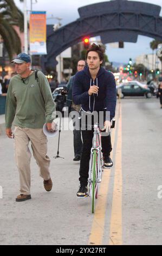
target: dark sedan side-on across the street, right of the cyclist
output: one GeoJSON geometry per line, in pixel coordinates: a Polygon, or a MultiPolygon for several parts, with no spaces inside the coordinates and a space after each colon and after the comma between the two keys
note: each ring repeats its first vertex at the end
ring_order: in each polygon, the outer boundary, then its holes
{"type": "Polygon", "coordinates": [[[141,84],[138,81],[130,81],[127,83],[121,83],[120,86],[116,87],[117,96],[124,98],[125,96],[146,96],[147,98],[152,97],[151,91],[147,88],[147,85],[141,84]],[[121,91],[121,92],[120,92],[121,91]]]}

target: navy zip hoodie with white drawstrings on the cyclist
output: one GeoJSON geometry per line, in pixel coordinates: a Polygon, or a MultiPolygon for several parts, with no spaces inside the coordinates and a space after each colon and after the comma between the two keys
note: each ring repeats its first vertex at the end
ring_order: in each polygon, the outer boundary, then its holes
{"type": "Polygon", "coordinates": [[[113,74],[100,68],[95,81],[93,81],[88,66],[77,72],[73,81],[73,101],[76,105],[81,105],[85,111],[93,112],[93,110],[105,109],[110,112],[112,119],[115,116],[116,107],[116,84],[113,74]],[[93,85],[98,85],[98,95],[89,96],[88,90],[93,85]]]}

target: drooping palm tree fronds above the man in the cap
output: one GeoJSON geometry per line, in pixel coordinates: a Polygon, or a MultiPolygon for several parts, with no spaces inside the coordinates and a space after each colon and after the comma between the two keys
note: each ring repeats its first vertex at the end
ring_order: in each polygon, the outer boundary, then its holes
{"type": "Polygon", "coordinates": [[[21,40],[13,26],[23,31],[23,13],[13,0],[0,0],[0,35],[10,60],[13,54],[21,52],[21,40]]]}

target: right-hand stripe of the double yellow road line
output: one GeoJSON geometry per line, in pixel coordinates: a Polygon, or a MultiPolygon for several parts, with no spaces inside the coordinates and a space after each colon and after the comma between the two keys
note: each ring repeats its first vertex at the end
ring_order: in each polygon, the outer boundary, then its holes
{"type": "Polygon", "coordinates": [[[109,231],[109,245],[122,245],[122,166],[121,166],[121,143],[122,143],[122,120],[121,104],[118,120],[118,137],[115,153],[114,190],[112,200],[112,213],[109,231]]]}

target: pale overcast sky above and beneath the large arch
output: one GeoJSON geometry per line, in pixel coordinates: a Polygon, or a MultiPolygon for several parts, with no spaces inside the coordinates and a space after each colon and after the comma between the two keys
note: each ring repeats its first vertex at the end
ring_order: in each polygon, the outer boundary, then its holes
{"type": "MultiPolygon", "coordinates": [[[[23,10],[23,3],[20,3],[20,0],[14,0],[17,7],[23,10]]],[[[27,0],[28,9],[30,9],[30,0],[27,0]]],[[[62,18],[62,25],[66,25],[70,22],[75,21],[79,18],[79,13],[77,9],[79,7],[83,7],[85,5],[93,4],[93,3],[101,3],[106,2],[102,0],[37,0],[36,4],[33,4],[33,10],[47,11],[47,17],[60,17],[62,18]]],[[[162,8],[162,0],[143,0],[135,2],[146,2],[160,5],[162,8]]],[[[35,3],[35,0],[33,0],[35,3]]],[[[160,12],[160,16],[162,16],[162,10],[160,12]]],[[[57,20],[50,19],[47,22],[48,24],[57,23],[57,20]]],[[[110,62],[121,62],[127,63],[129,58],[132,58],[135,61],[135,57],[139,56],[142,53],[148,54],[152,53],[150,48],[150,42],[152,38],[148,38],[147,36],[138,36],[138,41],[136,44],[125,42],[124,48],[112,48],[107,44],[107,55],[110,62]]]]}

